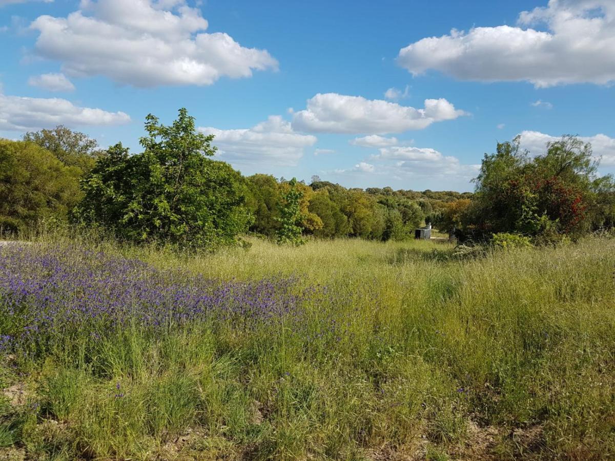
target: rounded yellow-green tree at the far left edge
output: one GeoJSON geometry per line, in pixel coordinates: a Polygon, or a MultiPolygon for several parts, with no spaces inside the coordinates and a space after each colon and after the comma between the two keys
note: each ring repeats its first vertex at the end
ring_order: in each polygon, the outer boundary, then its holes
{"type": "Polygon", "coordinates": [[[65,221],[81,198],[80,173],[37,144],[0,140],[0,227],[21,232],[39,221],[65,221]]]}

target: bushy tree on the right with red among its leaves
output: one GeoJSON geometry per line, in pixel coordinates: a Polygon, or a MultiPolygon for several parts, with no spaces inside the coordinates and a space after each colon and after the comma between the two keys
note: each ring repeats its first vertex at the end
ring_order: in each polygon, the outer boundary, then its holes
{"type": "Polygon", "coordinates": [[[576,136],[548,143],[544,154],[530,157],[520,138],[498,144],[485,154],[476,193],[464,221],[483,234],[516,232],[538,241],[558,235],[577,238],[612,210],[605,199],[611,178],[597,178],[598,160],[590,144],[576,136]]]}

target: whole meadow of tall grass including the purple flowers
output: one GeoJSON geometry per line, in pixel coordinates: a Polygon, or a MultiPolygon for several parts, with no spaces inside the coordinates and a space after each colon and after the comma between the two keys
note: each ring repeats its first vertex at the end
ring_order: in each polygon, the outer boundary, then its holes
{"type": "Polygon", "coordinates": [[[250,242],[0,248],[0,456],[615,457],[615,240],[250,242]]]}

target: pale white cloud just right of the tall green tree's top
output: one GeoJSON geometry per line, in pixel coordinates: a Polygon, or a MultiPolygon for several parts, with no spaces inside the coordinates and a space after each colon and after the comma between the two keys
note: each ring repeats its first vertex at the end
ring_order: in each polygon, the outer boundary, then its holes
{"type": "Polygon", "coordinates": [[[303,156],[303,149],[317,141],[315,136],[294,132],[290,122],[280,116],[269,116],[252,128],[203,127],[199,130],[215,135],[213,144],[218,146],[224,160],[239,164],[296,165],[303,156]]]}

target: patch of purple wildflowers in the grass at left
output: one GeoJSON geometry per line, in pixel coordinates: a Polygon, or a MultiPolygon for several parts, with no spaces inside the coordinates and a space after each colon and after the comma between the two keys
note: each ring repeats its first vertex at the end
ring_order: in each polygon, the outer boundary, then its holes
{"type": "Polygon", "coordinates": [[[151,331],[215,320],[251,329],[297,318],[307,293],[293,278],[223,281],[161,270],[76,246],[0,249],[0,349],[87,331],[92,339],[137,324],[151,331]]]}

